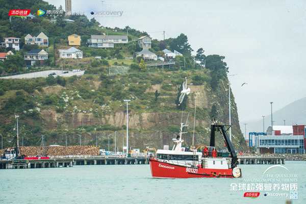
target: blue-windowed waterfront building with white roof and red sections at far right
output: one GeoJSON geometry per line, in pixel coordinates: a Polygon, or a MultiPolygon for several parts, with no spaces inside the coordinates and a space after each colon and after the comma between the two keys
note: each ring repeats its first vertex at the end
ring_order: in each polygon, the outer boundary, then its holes
{"type": "Polygon", "coordinates": [[[305,154],[305,125],[273,125],[266,133],[250,132],[248,146],[260,154],[305,154]]]}

